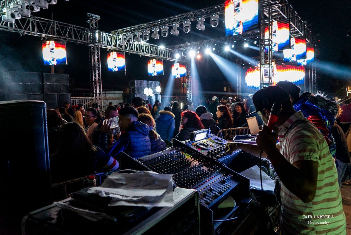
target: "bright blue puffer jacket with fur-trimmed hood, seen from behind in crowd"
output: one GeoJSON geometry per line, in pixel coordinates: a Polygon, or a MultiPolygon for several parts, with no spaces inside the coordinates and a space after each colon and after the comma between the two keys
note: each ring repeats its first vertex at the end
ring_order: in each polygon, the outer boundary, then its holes
{"type": "Polygon", "coordinates": [[[170,111],[160,111],[160,116],[156,119],[156,131],[161,139],[172,140],[174,133],[174,114],[170,111]]]}

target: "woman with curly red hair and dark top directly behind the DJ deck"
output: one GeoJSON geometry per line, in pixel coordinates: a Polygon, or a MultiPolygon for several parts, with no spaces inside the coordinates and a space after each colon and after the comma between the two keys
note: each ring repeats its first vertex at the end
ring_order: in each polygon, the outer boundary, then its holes
{"type": "Polygon", "coordinates": [[[193,111],[184,111],[181,113],[181,129],[176,139],[184,141],[190,139],[190,134],[193,131],[204,129],[204,125],[201,123],[199,116],[193,111]]]}

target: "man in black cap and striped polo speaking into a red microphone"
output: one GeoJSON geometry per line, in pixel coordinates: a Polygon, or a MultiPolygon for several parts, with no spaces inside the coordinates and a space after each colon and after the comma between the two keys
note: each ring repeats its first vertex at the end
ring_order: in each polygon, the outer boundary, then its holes
{"type": "MultiPolygon", "coordinates": [[[[265,123],[273,103],[282,104],[273,132],[267,126],[259,132],[258,148],[237,144],[254,155],[263,150],[282,181],[282,234],[346,234],[338,174],[323,135],[294,110],[280,87],[260,89],[252,100],[265,123]]],[[[231,152],[235,146],[232,143],[226,149],[231,152]]]]}

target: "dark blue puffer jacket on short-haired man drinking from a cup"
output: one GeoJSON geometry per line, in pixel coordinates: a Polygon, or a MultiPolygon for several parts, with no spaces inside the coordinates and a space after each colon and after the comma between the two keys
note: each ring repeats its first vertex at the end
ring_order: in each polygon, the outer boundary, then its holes
{"type": "Polygon", "coordinates": [[[151,142],[148,134],[149,127],[146,124],[134,121],[110,148],[107,148],[107,133],[101,132],[99,147],[112,157],[123,151],[132,158],[141,158],[151,153],[151,142]]]}

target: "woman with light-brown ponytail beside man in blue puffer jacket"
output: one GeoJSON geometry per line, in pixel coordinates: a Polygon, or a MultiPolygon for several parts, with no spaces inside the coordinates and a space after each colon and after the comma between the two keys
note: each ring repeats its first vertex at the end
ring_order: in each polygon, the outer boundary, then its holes
{"type": "Polygon", "coordinates": [[[149,127],[151,154],[165,150],[166,143],[165,141],[161,140],[160,135],[154,131],[156,127],[156,123],[153,117],[151,116],[151,114],[146,114],[146,113],[139,114],[138,121],[145,123],[149,127]]]}

